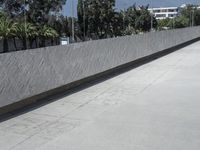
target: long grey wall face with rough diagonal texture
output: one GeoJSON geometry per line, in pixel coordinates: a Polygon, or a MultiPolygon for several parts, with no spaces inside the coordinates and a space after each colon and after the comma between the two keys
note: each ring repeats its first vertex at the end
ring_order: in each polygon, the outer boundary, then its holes
{"type": "Polygon", "coordinates": [[[200,37],[200,27],[0,54],[0,107],[200,37]]]}

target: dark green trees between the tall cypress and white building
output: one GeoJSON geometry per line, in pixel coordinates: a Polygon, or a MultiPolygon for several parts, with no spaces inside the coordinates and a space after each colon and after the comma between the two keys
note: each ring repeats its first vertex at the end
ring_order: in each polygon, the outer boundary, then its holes
{"type": "Polygon", "coordinates": [[[157,21],[147,6],[134,4],[116,11],[115,0],[78,0],[78,34],[82,38],[108,38],[147,32],[157,21]]]}

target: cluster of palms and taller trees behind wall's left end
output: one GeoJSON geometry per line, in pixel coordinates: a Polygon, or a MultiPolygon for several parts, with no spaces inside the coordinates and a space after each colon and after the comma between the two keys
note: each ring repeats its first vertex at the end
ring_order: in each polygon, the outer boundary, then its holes
{"type": "Polygon", "coordinates": [[[65,28],[66,19],[60,15],[66,0],[0,0],[0,39],[3,52],[8,52],[8,40],[16,39],[27,47],[44,47],[45,40],[58,43],[65,28]],[[29,44],[29,46],[28,46],[29,44]]]}

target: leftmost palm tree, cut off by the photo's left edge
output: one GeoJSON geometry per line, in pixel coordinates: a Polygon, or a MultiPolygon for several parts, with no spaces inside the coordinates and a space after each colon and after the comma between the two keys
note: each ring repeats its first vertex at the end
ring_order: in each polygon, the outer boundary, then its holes
{"type": "Polygon", "coordinates": [[[0,37],[3,39],[3,52],[8,52],[8,39],[15,36],[16,23],[7,17],[0,18],[0,37]]]}

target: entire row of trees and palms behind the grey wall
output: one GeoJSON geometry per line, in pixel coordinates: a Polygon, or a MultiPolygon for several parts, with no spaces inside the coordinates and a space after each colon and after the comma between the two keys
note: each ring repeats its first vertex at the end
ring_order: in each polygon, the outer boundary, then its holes
{"type": "Polygon", "coordinates": [[[72,37],[72,31],[75,41],[85,41],[200,25],[200,10],[194,5],[181,9],[175,19],[156,20],[149,5],[133,4],[119,11],[115,0],[78,0],[77,17],[65,17],[65,3],[66,0],[0,0],[3,52],[8,52],[9,40],[15,50],[19,50],[16,40],[20,40],[25,50],[44,47],[46,40],[51,45],[59,44],[59,38],[72,37]]]}

